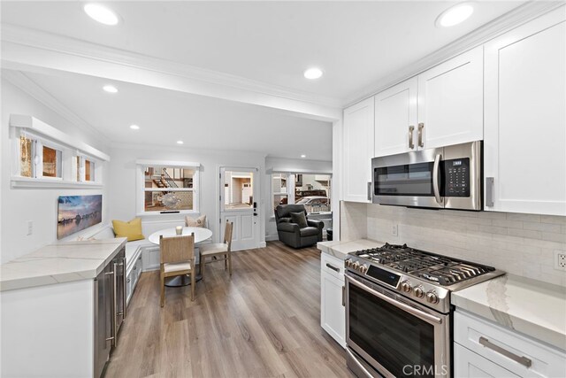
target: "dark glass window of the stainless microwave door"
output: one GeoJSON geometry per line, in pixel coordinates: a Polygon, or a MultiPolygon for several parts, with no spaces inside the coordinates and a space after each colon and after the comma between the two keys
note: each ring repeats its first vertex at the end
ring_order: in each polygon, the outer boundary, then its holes
{"type": "Polygon", "coordinates": [[[433,167],[434,163],[430,162],[375,168],[375,195],[432,197],[433,167]]]}

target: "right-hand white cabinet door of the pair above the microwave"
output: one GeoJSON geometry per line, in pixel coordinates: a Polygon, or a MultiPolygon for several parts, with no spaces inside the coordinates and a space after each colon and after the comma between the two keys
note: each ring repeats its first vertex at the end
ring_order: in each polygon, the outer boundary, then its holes
{"type": "Polygon", "coordinates": [[[484,139],[483,57],[479,46],[418,75],[419,148],[484,139]]]}

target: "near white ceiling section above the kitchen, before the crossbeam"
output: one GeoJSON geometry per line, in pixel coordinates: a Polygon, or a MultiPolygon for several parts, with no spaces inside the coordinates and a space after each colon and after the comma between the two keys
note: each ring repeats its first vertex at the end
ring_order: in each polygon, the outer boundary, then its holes
{"type": "Polygon", "coordinates": [[[455,1],[104,2],[123,22],[89,19],[79,1],[2,2],[2,21],[120,50],[346,99],[524,1],[478,1],[463,24],[434,26],[455,1]],[[302,72],[320,66],[325,76],[302,72]]]}

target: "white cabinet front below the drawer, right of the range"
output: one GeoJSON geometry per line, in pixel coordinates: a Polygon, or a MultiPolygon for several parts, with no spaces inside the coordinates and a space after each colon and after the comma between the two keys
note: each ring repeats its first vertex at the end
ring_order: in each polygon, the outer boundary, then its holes
{"type": "Polygon", "coordinates": [[[454,343],[454,376],[458,378],[518,377],[459,343],[454,343]]]}

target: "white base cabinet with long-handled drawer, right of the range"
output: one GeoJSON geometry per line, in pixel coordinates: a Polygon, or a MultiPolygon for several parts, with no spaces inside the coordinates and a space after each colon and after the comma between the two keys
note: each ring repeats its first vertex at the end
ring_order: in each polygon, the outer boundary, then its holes
{"type": "Polygon", "coordinates": [[[459,309],[454,313],[454,343],[457,377],[566,374],[564,351],[459,309]]]}

